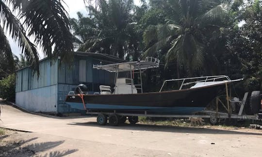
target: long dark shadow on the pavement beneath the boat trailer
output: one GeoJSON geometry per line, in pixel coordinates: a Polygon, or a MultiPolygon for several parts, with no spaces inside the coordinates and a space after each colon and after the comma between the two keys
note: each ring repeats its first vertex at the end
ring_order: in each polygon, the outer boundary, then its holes
{"type": "Polygon", "coordinates": [[[238,135],[262,135],[261,133],[240,132],[233,130],[220,130],[213,128],[199,128],[199,127],[186,127],[186,126],[158,126],[150,124],[123,124],[120,126],[99,126],[96,122],[86,123],[73,123],[67,125],[77,126],[96,126],[111,129],[125,129],[125,130],[138,130],[138,131],[162,131],[162,132],[177,132],[177,133],[197,133],[197,134],[238,134],[238,135]]]}

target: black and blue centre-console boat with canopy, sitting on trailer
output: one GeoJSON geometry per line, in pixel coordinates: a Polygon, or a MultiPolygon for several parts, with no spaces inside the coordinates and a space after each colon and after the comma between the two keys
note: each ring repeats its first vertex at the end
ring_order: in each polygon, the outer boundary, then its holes
{"type": "Polygon", "coordinates": [[[143,93],[142,75],[149,68],[159,67],[159,60],[147,57],[145,61],[94,65],[115,73],[115,87],[100,85],[100,92],[87,94],[85,85],[66,96],[66,104],[88,112],[121,112],[148,114],[193,114],[204,110],[208,104],[235,81],[228,76],[206,76],[164,80],[158,92],[143,93]],[[123,75],[127,77],[122,77],[123,75]],[[134,74],[140,82],[134,84],[134,74]],[[167,82],[176,82],[178,89],[164,91],[167,82]]]}

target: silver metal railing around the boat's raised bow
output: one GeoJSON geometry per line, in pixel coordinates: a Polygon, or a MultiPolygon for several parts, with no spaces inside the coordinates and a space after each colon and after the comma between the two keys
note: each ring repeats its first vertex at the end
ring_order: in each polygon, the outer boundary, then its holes
{"type": "Polygon", "coordinates": [[[163,89],[163,87],[164,87],[164,84],[165,84],[166,82],[169,82],[169,81],[180,81],[180,80],[181,80],[182,83],[181,83],[180,88],[179,88],[179,90],[181,90],[184,85],[189,85],[189,84],[197,83],[197,82],[211,82],[211,81],[214,82],[215,80],[217,80],[217,79],[222,79],[222,78],[226,78],[227,81],[230,81],[230,78],[229,78],[228,76],[226,76],[226,75],[220,75],[220,76],[205,76],[205,77],[196,77],[196,78],[166,79],[166,80],[164,80],[163,85],[162,85],[162,87],[161,87],[161,89],[160,89],[159,92],[162,91],[162,89],[163,89]],[[186,80],[189,80],[189,79],[198,79],[198,80],[197,80],[197,81],[191,81],[191,82],[186,82],[186,83],[184,83],[186,80]]]}

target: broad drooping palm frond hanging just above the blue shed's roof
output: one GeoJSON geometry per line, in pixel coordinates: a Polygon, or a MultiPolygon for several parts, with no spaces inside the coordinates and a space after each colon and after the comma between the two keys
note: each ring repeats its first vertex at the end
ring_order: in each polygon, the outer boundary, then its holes
{"type": "Polygon", "coordinates": [[[68,14],[62,2],[63,0],[30,0],[26,6],[20,8],[20,18],[24,18],[29,35],[33,35],[34,42],[43,47],[45,56],[54,60],[60,56],[62,61],[66,61],[66,58],[73,58],[73,38],[68,14]]]}

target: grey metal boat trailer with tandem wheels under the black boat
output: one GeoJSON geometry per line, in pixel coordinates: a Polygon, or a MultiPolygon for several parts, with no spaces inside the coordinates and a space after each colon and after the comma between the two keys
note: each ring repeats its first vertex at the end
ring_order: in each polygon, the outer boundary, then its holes
{"type": "MultiPolygon", "coordinates": [[[[119,110],[112,110],[111,112],[109,112],[109,111],[106,111],[106,112],[95,111],[95,112],[93,112],[93,111],[87,110],[86,114],[98,115],[98,118],[97,118],[98,125],[105,125],[107,120],[104,121],[103,123],[101,123],[101,121],[99,121],[99,119],[100,120],[103,119],[103,118],[107,119],[106,117],[108,117],[109,124],[112,125],[112,126],[117,126],[120,123],[125,123],[125,121],[127,120],[127,117],[128,117],[128,120],[131,124],[135,124],[135,123],[138,122],[138,116],[142,116],[142,117],[165,117],[165,118],[210,118],[210,123],[213,124],[213,125],[217,124],[220,121],[220,119],[261,120],[262,117],[260,115],[243,114],[247,97],[248,97],[248,92],[245,93],[242,101],[240,101],[240,100],[229,100],[231,103],[238,103],[240,105],[240,110],[237,114],[236,113],[219,112],[218,110],[216,110],[216,111],[215,110],[203,110],[201,112],[197,112],[196,114],[192,114],[192,115],[147,114],[146,110],[143,111],[143,113],[141,113],[141,112],[140,113],[136,113],[136,112],[125,113],[125,112],[121,112],[119,110]],[[101,118],[101,116],[102,116],[102,118],[101,118]],[[112,118],[112,117],[114,117],[114,118],[112,118]]],[[[219,98],[217,97],[217,99],[219,99],[219,98]]]]}

